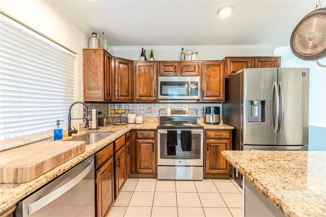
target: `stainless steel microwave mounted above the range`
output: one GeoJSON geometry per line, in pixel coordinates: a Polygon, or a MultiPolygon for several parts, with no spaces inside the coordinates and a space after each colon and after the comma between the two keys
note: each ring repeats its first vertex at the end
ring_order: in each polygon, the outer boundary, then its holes
{"type": "Polygon", "coordinates": [[[200,77],[158,77],[159,100],[200,99],[200,77]]]}

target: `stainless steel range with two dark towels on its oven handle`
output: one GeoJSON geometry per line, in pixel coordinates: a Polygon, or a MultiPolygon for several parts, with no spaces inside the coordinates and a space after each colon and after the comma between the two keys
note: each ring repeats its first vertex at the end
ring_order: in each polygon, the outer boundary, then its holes
{"type": "Polygon", "coordinates": [[[157,179],[203,180],[203,134],[197,109],[161,108],[157,179]]]}

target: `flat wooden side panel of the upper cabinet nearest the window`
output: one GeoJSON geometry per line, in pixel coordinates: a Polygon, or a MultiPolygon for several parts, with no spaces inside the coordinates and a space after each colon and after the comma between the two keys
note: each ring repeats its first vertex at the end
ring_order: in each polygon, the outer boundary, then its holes
{"type": "Polygon", "coordinates": [[[83,49],[84,101],[104,101],[103,53],[103,49],[83,49]]]}

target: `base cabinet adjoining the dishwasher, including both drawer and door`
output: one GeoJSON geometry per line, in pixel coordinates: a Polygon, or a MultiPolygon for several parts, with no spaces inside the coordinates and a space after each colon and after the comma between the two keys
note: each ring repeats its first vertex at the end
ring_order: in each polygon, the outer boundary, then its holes
{"type": "Polygon", "coordinates": [[[113,143],[95,154],[96,213],[107,216],[114,203],[113,143]]]}

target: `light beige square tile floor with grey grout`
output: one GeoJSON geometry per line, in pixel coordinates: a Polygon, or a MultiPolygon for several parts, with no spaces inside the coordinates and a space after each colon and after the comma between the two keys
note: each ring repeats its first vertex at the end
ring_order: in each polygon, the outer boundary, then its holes
{"type": "Polygon", "coordinates": [[[124,184],[108,216],[242,217],[243,192],[229,179],[132,178],[124,184]]]}

